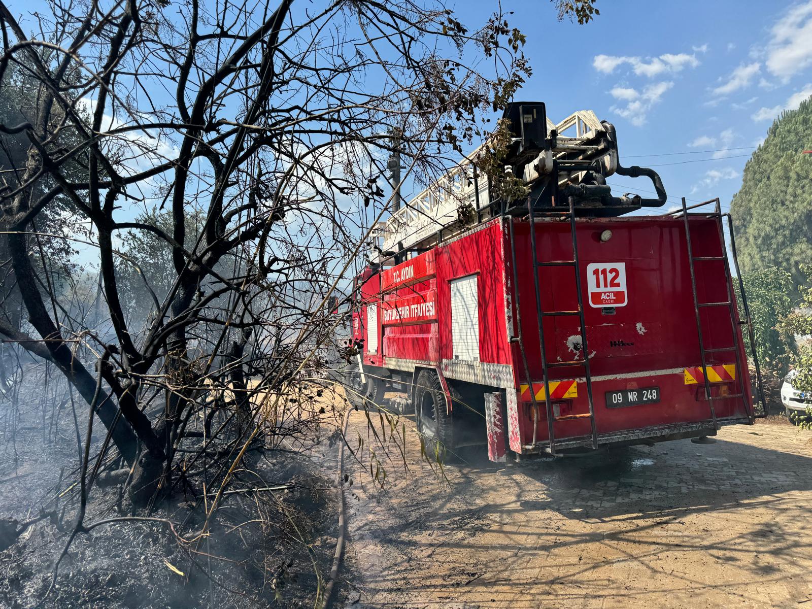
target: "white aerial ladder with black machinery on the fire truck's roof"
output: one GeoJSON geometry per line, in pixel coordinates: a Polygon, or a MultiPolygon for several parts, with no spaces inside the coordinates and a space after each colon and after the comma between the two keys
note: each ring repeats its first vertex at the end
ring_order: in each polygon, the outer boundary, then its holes
{"type": "MultiPolygon", "coordinates": [[[[506,169],[529,189],[533,211],[559,207],[580,217],[616,216],[643,206],[666,202],[663,184],[654,171],[624,167],[618,160],[615,127],[599,121],[592,110],[579,110],[558,124],[546,117],[543,103],[515,102],[505,110],[512,141],[506,169]],[[645,176],[654,185],[655,199],[636,194],[613,197],[607,177],[645,176]]],[[[375,248],[382,258],[400,257],[437,245],[460,228],[460,206],[470,205],[477,222],[500,214],[527,214],[525,201],[499,201],[490,179],[477,171],[476,159],[488,142],[406,201],[374,230],[375,248]]]]}

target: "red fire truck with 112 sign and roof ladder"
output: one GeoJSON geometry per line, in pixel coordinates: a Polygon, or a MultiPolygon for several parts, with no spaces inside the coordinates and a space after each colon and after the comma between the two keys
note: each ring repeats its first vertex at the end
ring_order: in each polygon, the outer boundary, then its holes
{"type": "Polygon", "coordinates": [[[350,392],[400,387],[425,438],[486,443],[496,461],[752,424],[753,330],[719,201],[621,217],[667,195],[654,171],[620,165],[611,123],[585,110],[556,125],[538,102],[505,118],[506,169],[528,196],[492,199],[466,161],[378,226],[354,289],[350,392]],[[657,197],[613,196],[613,174],[657,197]]]}

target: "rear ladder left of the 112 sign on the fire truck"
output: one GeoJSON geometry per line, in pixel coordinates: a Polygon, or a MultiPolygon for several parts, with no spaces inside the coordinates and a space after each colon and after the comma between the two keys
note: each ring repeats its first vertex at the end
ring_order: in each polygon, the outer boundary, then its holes
{"type": "MultiPolygon", "coordinates": [[[[542,354],[542,372],[544,374],[544,401],[546,404],[547,412],[547,434],[550,438],[550,454],[555,455],[555,421],[571,421],[573,419],[586,419],[590,420],[592,432],[592,447],[598,448],[598,430],[595,425],[595,411],[592,400],[592,374],[590,374],[590,357],[589,350],[586,346],[586,322],[584,319],[584,298],[581,291],[581,273],[580,266],[578,265],[578,242],[576,236],[576,223],[575,223],[575,204],[572,197],[569,198],[569,211],[566,212],[534,212],[528,199],[529,221],[530,221],[530,251],[533,257],[533,287],[536,291],[536,313],[538,315],[538,339],[539,347],[542,354]],[[572,234],[572,259],[571,260],[556,260],[556,261],[539,261],[538,253],[536,251],[536,231],[533,216],[535,214],[554,217],[557,216],[561,219],[567,218],[569,220],[570,231],[572,234]],[[542,292],[541,283],[538,279],[538,273],[543,266],[569,266],[575,273],[575,288],[578,297],[578,308],[574,311],[544,311],[542,310],[542,292]],[[547,361],[547,354],[545,349],[544,340],[544,318],[545,317],[574,317],[577,316],[581,322],[581,353],[583,357],[580,360],[572,361],[547,361]],[[568,366],[581,366],[584,369],[584,378],[586,380],[586,395],[590,403],[590,412],[581,414],[564,415],[564,417],[554,417],[552,404],[550,401],[550,369],[551,368],[564,368],[568,366]]],[[[522,354],[524,356],[524,354],[522,354]]],[[[538,404],[536,404],[536,395],[533,390],[533,379],[528,378],[527,382],[530,389],[530,400],[533,402],[533,413],[538,412],[538,404]]],[[[538,416],[538,415],[537,415],[538,416]]],[[[533,417],[533,446],[536,444],[536,417],[533,417]]]]}

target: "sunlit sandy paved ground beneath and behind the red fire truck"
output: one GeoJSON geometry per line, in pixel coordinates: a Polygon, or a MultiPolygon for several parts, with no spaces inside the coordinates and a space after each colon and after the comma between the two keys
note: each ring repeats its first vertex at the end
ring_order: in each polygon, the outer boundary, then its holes
{"type": "Polygon", "coordinates": [[[446,480],[412,438],[383,490],[355,466],[347,606],[812,607],[812,434],[718,438],[447,465],[446,480]]]}

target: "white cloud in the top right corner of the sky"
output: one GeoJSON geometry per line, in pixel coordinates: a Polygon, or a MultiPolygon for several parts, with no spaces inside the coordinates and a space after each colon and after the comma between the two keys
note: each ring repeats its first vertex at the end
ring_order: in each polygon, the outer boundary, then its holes
{"type": "Polygon", "coordinates": [[[812,64],[812,0],[793,6],[771,28],[765,66],[786,82],[812,64]]]}

